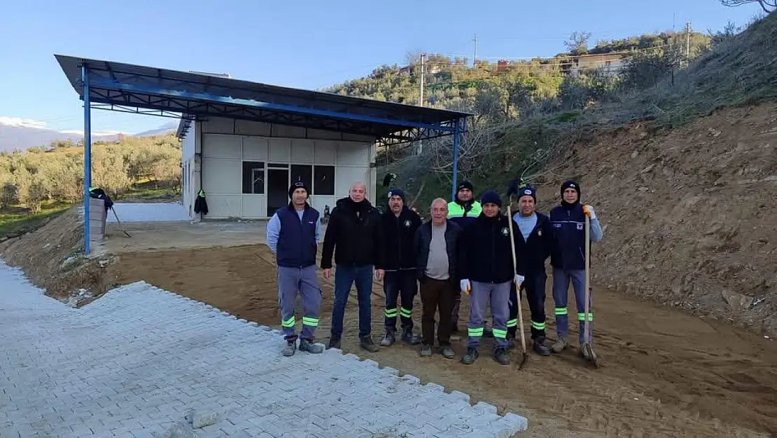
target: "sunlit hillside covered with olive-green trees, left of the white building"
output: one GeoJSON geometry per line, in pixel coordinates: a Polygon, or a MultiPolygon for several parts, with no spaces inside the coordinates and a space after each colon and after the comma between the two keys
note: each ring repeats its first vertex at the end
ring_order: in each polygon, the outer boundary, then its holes
{"type": "MultiPolygon", "coordinates": [[[[127,137],[92,145],[92,185],[112,198],[179,191],[181,143],[175,135],[127,137]]],[[[58,212],[83,197],[82,143],[0,152],[0,237],[17,223],[58,212]]]]}

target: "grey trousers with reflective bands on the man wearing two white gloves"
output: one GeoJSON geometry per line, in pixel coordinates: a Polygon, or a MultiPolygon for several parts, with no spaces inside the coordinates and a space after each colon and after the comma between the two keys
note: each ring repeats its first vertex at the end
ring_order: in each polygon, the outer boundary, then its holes
{"type": "Polygon", "coordinates": [[[493,338],[495,349],[507,349],[507,316],[510,314],[510,283],[470,282],[469,324],[467,324],[467,347],[478,348],[483,337],[486,321],[486,304],[491,303],[493,338]]]}

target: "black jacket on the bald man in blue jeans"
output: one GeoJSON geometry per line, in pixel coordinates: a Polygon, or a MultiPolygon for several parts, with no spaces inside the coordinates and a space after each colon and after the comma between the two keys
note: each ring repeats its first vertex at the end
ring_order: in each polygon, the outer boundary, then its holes
{"type": "Polygon", "coordinates": [[[381,215],[370,201],[337,200],[329,215],[321,251],[321,268],[332,268],[332,254],[337,265],[383,268],[384,239],[381,215]],[[337,251],[335,251],[337,247],[337,251]]]}

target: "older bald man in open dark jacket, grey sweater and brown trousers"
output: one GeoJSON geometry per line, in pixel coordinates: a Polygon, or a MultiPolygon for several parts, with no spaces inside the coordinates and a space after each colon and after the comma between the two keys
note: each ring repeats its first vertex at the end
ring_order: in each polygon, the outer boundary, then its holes
{"type": "Polygon", "coordinates": [[[451,317],[455,296],[458,295],[456,269],[460,227],[451,219],[446,219],[448,204],[443,198],[432,201],[430,211],[431,219],[420,226],[413,243],[423,303],[421,356],[432,355],[434,314],[439,309],[437,342],[440,343],[442,356],[452,359],[451,317]]]}

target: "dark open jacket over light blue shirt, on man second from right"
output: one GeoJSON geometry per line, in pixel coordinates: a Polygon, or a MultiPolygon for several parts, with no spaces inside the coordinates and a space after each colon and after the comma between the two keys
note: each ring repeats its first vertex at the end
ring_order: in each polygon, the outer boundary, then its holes
{"type": "Polygon", "coordinates": [[[536,214],[537,224],[527,240],[524,240],[517,223],[513,223],[513,233],[517,234],[515,256],[518,266],[523,269],[519,274],[545,277],[545,261],[550,257],[553,248],[553,227],[548,216],[536,214]]]}

